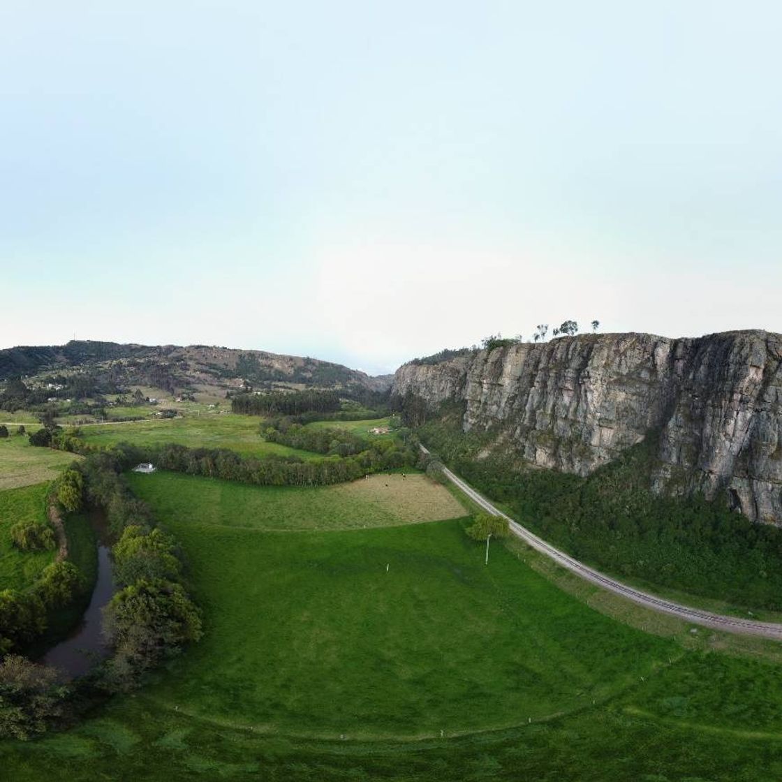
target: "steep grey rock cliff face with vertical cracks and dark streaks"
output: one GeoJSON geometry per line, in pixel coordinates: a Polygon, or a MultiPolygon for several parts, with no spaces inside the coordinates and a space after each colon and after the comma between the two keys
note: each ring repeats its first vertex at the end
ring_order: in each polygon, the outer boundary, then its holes
{"type": "Polygon", "coordinates": [[[404,364],[393,393],[466,403],[526,461],[587,475],[661,432],[652,488],[727,490],[749,518],[782,524],[782,335],[563,337],[404,364]]]}

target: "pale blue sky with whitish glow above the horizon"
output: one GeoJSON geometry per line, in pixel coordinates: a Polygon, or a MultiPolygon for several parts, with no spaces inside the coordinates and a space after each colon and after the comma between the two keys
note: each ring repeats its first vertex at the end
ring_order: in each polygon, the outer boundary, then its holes
{"type": "Polygon", "coordinates": [[[0,0],[0,347],[782,332],[777,2],[0,0]],[[587,327],[588,328],[588,327],[587,327]]]}

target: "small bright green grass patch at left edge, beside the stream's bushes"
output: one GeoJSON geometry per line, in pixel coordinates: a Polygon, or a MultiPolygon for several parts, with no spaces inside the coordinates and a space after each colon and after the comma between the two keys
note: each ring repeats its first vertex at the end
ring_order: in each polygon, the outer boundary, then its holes
{"type": "MultiPolygon", "coordinates": [[[[0,440],[2,447],[2,440],[0,440]]],[[[11,543],[16,522],[46,522],[47,484],[0,491],[0,590],[23,590],[34,582],[56,551],[20,551],[11,543]]]]}

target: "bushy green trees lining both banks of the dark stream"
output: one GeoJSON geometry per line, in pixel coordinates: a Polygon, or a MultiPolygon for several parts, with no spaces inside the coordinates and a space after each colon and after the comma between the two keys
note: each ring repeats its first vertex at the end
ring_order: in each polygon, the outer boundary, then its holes
{"type": "Polygon", "coordinates": [[[38,604],[62,604],[75,579],[81,579],[70,562],[56,563],[57,572],[45,570],[23,600],[10,599],[9,590],[0,593],[0,737],[28,739],[71,721],[107,694],[134,687],[145,671],[203,634],[200,609],[186,589],[178,543],[156,526],[149,506],[120,475],[133,456],[123,449],[92,454],[67,471],[79,479],[70,475],[56,484],[63,509],[83,502],[102,508],[118,538],[112,555],[119,588],[103,613],[112,653],[69,685],[58,683],[55,669],[19,654],[43,630],[38,604]]]}

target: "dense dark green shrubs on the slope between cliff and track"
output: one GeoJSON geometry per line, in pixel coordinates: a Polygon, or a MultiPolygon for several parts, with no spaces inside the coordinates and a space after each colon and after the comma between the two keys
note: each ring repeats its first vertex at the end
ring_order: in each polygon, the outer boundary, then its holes
{"type": "Polygon", "coordinates": [[[725,497],[650,490],[655,435],[588,478],[523,468],[513,454],[476,454],[492,436],[461,432],[450,411],[418,430],[477,489],[576,558],[638,583],[782,610],[782,529],[731,511],[725,497]]]}

